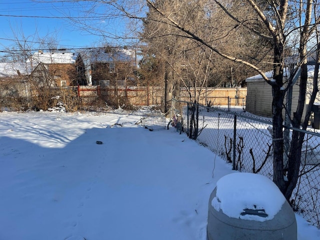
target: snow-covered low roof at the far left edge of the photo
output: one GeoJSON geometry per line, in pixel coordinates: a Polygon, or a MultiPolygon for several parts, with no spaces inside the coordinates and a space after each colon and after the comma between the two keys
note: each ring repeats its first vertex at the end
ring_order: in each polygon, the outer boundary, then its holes
{"type": "Polygon", "coordinates": [[[0,77],[12,77],[19,74],[26,75],[30,71],[30,63],[0,62],[0,77]]]}

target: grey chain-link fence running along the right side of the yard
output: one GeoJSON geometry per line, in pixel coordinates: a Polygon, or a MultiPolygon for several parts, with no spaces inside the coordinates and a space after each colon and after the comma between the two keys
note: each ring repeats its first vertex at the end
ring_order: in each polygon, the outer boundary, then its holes
{"type": "MultiPolygon", "coordinates": [[[[272,122],[245,112],[242,107],[203,106],[172,99],[171,117],[181,115],[183,131],[199,144],[232,164],[233,169],[272,179],[272,122]]],[[[289,129],[303,131],[300,129],[289,129]]],[[[320,134],[304,131],[298,183],[291,205],[320,228],[320,134]]],[[[290,138],[288,138],[290,139],[290,138]]],[[[284,156],[285,158],[285,156],[284,156]]]]}

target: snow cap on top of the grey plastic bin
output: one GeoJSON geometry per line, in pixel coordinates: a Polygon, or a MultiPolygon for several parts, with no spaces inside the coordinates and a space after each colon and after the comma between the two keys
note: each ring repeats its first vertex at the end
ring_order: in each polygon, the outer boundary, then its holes
{"type": "Polygon", "coordinates": [[[271,220],[285,202],[279,188],[267,177],[254,173],[237,172],[221,177],[216,183],[212,199],[215,210],[233,218],[271,220]],[[263,186],[263,187],[262,187],[263,186]],[[244,209],[260,210],[267,216],[244,214],[244,209]]]}

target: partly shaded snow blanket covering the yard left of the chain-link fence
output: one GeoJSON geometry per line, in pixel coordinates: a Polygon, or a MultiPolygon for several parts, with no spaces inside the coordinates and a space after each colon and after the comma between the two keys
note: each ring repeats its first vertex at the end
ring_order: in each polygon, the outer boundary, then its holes
{"type": "MultiPolygon", "coordinates": [[[[205,240],[209,195],[234,171],[134,124],[144,111],[0,112],[0,239],[205,240]]],[[[320,239],[296,219],[299,240],[320,239]]]]}

